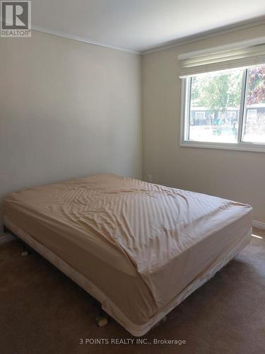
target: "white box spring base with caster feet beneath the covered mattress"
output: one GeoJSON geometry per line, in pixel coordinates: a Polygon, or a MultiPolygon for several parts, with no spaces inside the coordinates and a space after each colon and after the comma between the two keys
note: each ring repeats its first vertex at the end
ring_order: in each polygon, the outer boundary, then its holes
{"type": "MultiPolygon", "coordinates": [[[[40,244],[36,239],[30,236],[27,232],[24,232],[22,229],[17,227],[13,222],[8,220],[7,217],[4,217],[4,225],[7,232],[10,232],[14,236],[18,237],[20,241],[23,243],[23,247],[25,247],[24,254],[21,253],[22,256],[26,256],[28,254],[28,246],[30,249],[37,251],[41,256],[47,259],[52,265],[61,270],[62,273],[67,275],[73,282],[76,282],[83,290],[86,290],[88,294],[97,299],[97,301],[101,304],[102,310],[104,310],[110,317],[114,318],[119,324],[121,324],[129,333],[133,336],[143,336],[148,331],[150,331],[154,326],[159,324],[161,321],[165,321],[167,314],[172,311],[178,304],[180,304],[184,299],[186,299],[189,295],[192,294],[195,290],[197,290],[201,285],[204,285],[205,282],[213,278],[213,276],[221,269],[224,265],[235,258],[237,253],[244,249],[249,244],[249,237],[252,234],[252,229],[250,229],[244,237],[242,237],[237,247],[235,247],[232,251],[230,251],[225,256],[220,256],[214,265],[211,268],[208,268],[199,278],[196,278],[193,282],[191,282],[177,297],[175,297],[169,304],[167,304],[162,310],[160,310],[157,314],[155,314],[148,324],[144,325],[136,325],[133,324],[129,319],[127,319],[122,312],[120,312],[119,308],[116,307],[115,304],[111,303],[110,300],[107,299],[105,294],[96,287],[90,280],[84,277],[77,270],[74,270],[69,264],[59,258],[55,253],[47,249],[44,245],[40,244]],[[108,311],[105,308],[106,301],[109,301],[108,311]],[[110,306],[111,305],[111,306],[110,306]],[[110,311],[114,309],[114,311],[110,311]]],[[[102,314],[97,318],[98,326],[105,326],[107,324],[107,316],[102,314]]]]}

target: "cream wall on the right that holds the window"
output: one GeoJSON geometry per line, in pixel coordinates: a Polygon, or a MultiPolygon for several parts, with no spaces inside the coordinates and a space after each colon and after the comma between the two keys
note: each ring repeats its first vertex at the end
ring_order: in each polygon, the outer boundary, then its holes
{"type": "Polygon", "coordinates": [[[265,222],[265,153],[179,147],[180,53],[263,36],[265,25],[143,57],[143,176],[154,183],[218,195],[254,207],[265,222]]]}

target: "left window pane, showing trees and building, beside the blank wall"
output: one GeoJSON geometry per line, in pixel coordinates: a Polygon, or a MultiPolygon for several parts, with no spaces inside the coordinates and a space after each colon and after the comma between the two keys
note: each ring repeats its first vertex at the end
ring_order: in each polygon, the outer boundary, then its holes
{"type": "Polygon", "coordinates": [[[192,77],[189,140],[237,142],[244,69],[192,77]]]}

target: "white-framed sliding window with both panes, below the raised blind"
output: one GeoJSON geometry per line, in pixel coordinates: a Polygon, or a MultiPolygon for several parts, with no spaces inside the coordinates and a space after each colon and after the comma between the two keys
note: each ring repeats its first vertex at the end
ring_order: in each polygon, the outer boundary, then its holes
{"type": "Polygon", "coordinates": [[[265,152],[265,65],[183,79],[181,146],[265,152]]]}

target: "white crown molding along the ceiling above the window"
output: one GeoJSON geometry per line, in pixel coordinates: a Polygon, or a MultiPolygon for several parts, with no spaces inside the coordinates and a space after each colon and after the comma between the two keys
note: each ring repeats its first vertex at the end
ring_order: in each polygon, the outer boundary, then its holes
{"type": "Polygon", "coordinates": [[[240,23],[235,23],[234,25],[226,25],[222,28],[216,28],[215,30],[207,30],[205,32],[197,33],[196,35],[189,35],[179,40],[173,40],[167,42],[164,45],[153,47],[150,50],[143,50],[141,55],[151,54],[154,52],[159,52],[160,50],[166,50],[174,47],[179,47],[180,45],[186,45],[198,40],[205,40],[207,38],[216,37],[216,35],[224,35],[225,33],[236,32],[237,30],[245,30],[246,28],[257,27],[258,25],[265,24],[265,16],[254,18],[248,21],[242,21],[240,23]]]}

